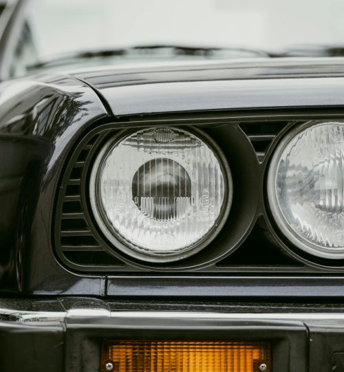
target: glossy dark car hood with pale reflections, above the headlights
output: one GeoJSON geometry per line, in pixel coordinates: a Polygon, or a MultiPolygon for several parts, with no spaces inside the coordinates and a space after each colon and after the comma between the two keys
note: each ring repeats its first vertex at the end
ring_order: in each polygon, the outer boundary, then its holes
{"type": "Polygon", "coordinates": [[[344,105],[344,58],[151,63],[71,74],[115,116],[344,105]]]}

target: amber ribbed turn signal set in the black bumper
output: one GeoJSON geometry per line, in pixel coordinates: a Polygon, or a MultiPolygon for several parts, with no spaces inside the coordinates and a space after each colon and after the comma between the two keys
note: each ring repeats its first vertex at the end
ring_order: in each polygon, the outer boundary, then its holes
{"type": "Polygon", "coordinates": [[[270,371],[270,342],[233,340],[105,340],[102,371],[270,371]]]}

